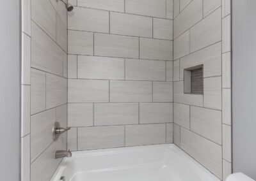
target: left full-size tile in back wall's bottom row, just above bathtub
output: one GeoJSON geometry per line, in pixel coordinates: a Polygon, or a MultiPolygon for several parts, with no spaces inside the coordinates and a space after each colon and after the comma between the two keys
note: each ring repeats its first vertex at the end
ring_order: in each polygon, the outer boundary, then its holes
{"type": "Polygon", "coordinates": [[[124,126],[78,127],[78,150],[124,147],[124,126]]]}

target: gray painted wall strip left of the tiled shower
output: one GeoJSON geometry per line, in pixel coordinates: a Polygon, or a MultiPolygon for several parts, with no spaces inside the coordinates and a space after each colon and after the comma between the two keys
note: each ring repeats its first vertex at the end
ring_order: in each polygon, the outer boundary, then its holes
{"type": "Polygon", "coordinates": [[[20,1],[0,11],[0,180],[19,180],[20,1]]]}

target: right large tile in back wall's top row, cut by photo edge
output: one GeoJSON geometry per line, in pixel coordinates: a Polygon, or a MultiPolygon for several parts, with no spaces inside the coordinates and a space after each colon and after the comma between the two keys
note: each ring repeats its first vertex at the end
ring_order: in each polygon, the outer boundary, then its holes
{"type": "Polygon", "coordinates": [[[125,12],[149,17],[166,18],[166,1],[125,0],[125,12]]]}

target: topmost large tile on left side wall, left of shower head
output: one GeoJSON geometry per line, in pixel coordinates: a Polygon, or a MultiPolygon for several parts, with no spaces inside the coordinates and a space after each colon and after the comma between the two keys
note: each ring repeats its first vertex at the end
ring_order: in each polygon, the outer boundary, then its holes
{"type": "Polygon", "coordinates": [[[56,11],[50,1],[31,0],[31,19],[56,40],[56,11]]]}

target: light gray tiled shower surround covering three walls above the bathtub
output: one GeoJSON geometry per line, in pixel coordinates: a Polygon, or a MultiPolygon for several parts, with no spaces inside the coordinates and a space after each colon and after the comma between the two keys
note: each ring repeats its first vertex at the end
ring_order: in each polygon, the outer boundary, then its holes
{"type": "Polygon", "coordinates": [[[49,180],[55,150],[173,142],[225,179],[230,0],[69,3],[22,0],[22,180],[49,180]],[[199,65],[204,94],[184,94],[199,65]],[[72,127],[58,141],[55,121],[72,127]]]}

